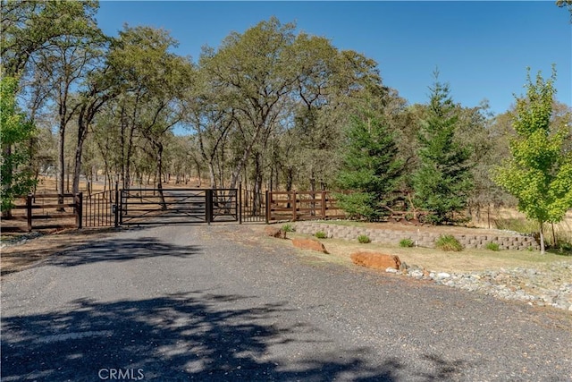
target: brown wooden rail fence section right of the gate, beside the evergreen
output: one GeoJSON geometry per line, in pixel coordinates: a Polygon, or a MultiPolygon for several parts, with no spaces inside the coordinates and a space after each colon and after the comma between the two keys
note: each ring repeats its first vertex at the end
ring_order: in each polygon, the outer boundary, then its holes
{"type": "Polygon", "coordinates": [[[267,222],[345,217],[330,191],[268,191],[267,222]]]}

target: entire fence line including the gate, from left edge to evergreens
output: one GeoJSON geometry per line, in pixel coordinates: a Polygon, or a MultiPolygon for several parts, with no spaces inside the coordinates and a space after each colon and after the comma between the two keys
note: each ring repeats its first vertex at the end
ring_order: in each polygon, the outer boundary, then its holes
{"type": "Polygon", "coordinates": [[[344,217],[330,191],[265,191],[246,189],[130,189],[91,194],[29,194],[4,220],[2,231],[33,228],[81,228],[207,223],[275,222],[344,217]],[[19,213],[23,211],[23,213],[19,213]],[[46,224],[39,224],[44,221],[46,224]]]}

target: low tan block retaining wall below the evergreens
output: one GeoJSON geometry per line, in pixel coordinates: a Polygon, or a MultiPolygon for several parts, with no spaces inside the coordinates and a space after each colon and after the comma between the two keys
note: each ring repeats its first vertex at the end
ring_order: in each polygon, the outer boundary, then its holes
{"type": "MultiPolygon", "coordinates": [[[[329,238],[344,240],[357,240],[357,236],[366,234],[372,242],[387,244],[399,244],[402,239],[410,239],[416,242],[419,247],[426,248],[433,248],[435,240],[439,237],[437,233],[424,232],[422,229],[418,232],[411,232],[348,225],[329,225],[317,222],[296,223],[297,233],[315,234],[318,231],[323,231],[329,238]]],[[[527,250],[529,247],[532,247],[533,250],[540,250],[540,245],[532,236],[510,233],[453,234],[453,236],[467,249],[484,249],[487,243],[496,242],[501,250],[527,250]]]]}

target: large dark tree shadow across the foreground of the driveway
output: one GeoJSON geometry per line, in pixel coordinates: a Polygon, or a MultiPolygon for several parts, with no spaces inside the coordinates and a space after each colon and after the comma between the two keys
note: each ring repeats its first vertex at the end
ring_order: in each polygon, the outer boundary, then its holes
{"type": "Polygon", "coordinates": [[[170,381],[393,381],[404,368],[394,359],[372,366],[363,358],[372,352],[366,348],[320,352],[331,341],[308,335],[315,327],[276,324],[286,302],[256,306],[255,300],[196,292],[79,300],[66,310],[4,317],[2,380],[100,380],[121,369],[131,379],[170,381]],[[270,355],[297,344],[315,349],[312,358],[281,362],[270,355]]]}

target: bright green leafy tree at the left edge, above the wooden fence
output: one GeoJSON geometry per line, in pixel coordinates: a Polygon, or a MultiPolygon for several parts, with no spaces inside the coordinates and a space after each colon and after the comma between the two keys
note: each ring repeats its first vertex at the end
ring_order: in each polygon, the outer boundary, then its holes
{"type": "Polygon", "coordinates": [[[2,142],[2,211],[13,206],[13,199],[26,195],[34,186],[29,167],[29,140],[35,128],[16,106],[18,80],[2,76],[0,80],[0,139],[2,142]]]}

